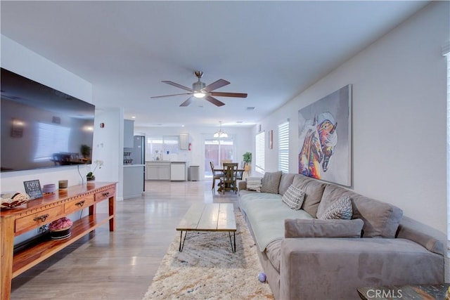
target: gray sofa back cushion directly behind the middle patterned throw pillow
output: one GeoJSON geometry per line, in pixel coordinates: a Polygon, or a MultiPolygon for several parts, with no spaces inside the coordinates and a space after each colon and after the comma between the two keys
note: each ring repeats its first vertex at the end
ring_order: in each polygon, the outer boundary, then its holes
{"type": "Polygon", "coordinates": [[[317,208],[321,202],[326,183],[321,183],[320,181],[308,178],[307,176],[296,174],[293,185],[297,188],[301,188],[304,190],[304,193],[306,193],[306,195],[304,195],[302,209],[316,218],[317,208]]]}

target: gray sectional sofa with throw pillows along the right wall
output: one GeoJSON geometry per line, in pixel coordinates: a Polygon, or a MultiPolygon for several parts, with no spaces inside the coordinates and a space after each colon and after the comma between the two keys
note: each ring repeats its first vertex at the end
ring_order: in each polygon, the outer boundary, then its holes
{"type": "Polygon", "coordinates": [[[276,299],[359,299],[358,287],[444,282],[445,235],[398,207],[300,174],[266,173],[260,192],[247,181],[238,189],[276,299]],[[283,199],[291,185],[304,191],[300,209],[283,199]],[[345,196],[351,219],[317,218],[345,196]]]}

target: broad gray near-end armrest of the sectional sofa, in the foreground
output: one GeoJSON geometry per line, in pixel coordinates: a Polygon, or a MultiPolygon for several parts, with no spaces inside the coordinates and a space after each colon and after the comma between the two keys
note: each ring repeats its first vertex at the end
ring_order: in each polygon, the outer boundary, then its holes
{"type": "Polygon", "coordinates": [[[358,287],[417,282],[444,282],[444,257],[411,240],[300,237],[281,242],[280,299],[358,299],[358,287]]]}

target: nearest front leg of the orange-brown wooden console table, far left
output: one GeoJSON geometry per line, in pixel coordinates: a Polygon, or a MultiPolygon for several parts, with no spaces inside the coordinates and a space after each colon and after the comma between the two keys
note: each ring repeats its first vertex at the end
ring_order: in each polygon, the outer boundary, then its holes
{"type": "Polygon", "coordinates": [[[9,300],[13,280],[14,218],[1,218],[1,290],[0,299],[9,300]]]}

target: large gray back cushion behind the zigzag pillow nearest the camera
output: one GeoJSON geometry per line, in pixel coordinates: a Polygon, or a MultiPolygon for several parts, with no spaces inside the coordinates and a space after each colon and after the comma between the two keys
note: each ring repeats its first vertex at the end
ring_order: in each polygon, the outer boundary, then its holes
{"type": "Polygon", "coordinates": [[[352,218],[364,221],[363,237],[395,237],[403,216],[401,209],[392,204],[359,195],[338,185],[326,185],[318,214],[323,214],[333,200],[342,196],[349,196],[352,200],[352,218]]]}

